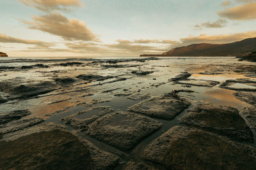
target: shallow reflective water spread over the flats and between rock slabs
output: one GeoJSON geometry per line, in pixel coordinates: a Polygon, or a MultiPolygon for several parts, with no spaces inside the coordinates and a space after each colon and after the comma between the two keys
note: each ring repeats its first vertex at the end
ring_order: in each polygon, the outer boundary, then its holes
{"type": "MultiPolygon", "coordinates": [[[[158,60],[126,60],[125,57],[108,58],[76,58],[65,59],[61,57],[54,58],[0,58],[1,66],[14,66],[15,69],[6,69],[0,71],[0,81],[13,81],[19,84],[35,83],[40,81],[54,81],[55,78],[70,77],[76,81],[70,85],[63,86],[47,94],[31,97],[29,99],[15,99],[7,103],[0,104],[1,112],[29,109],[33,114],[28,117],[42,117],[46,122],[62,124],[60,119],[69,115],[76,114],[79,111],[90,110],[96,106],[110,106],[115,111],[127,111],[130,106],[139,103],[145,99],[128,99],[125,94],[150,94],[150,96],[159,96],[173,90],[193,90],[194,92],[180,92],[179,95],[191,102],[192,108],[198,103],[214,103],[226,106],[232,106],[241,110],[248,106],[244,101],[239,101],[232,94],[236,91],[221,89],[220,84],[226,80],[236,80],[239,78],[248,78],[248,74],[239,71],[239,67],[255,67],[253,62],[238,62],[234,57],[160,57],[158,60]],[[109,64],[107,60],[115,60],[116,65],[125,65],[129,67],[106,67],[115,64],[109,64]],[[122,60],[122,62],[120,62],[122,60]],[[94,61],[94,63],[93,63],[94,61]],[[63,62],[82,62],[79,66],[56,66],[63,62]],[[44,64],[49,67],[33,67],[31,69],[20,69],[21,66],[31,66],[35,64],[44,64]],[[140,65],[140,66],[138,66],[140,65]],[[238,68],[238,71],[237,71],[238,68]],[[147,75],[132,74],[132,71],[154,71],[147,75]],[[214,87],[198,87],[195,85],[181,85],[168,81],[181,72],[188,71],[192,74],[189,79],[193,83],[205,83],[204,80],[220,81],[220,84],[214,87]],[[93,74],[100,76],[113,76],[107,80],[86,81],[77,79],[79,74],[93,74]],[[118,80],[126,78],[124,80],[118,80]],[[118,81],[116,81],[118,80],[118,81]]],[[[136,58],[129,58],[136,59],[136,58]]],[[[141,58],[138,58],[141,59],[141,58]]],[[[252,73],[251,73],[252,74],[252,73]]],[[[249,77],[250,78],[250,77],[249,77]]],[[[250,78],[256,80],[256,78],[250,78]]],[[[182,80],[185,81],[185,80],[182,80]]],[[[235,83],[234,88],[254,88],[243,83],[235,83]]],[[[2,93],[3,96],[6,94],[2,93]]],[[[83,132],[81,136],[92,141],[99,148],[108,152],[122,155],[124,160],[129,157],[138,158],[138,152],[141,152],[150,141],[156,139],[163,132],[178,125],[178,119],[186,113],[183,111],[174,120],[158,120],[163,123],[163,127],[151,136],[145,138],[129,152],[122,152],[112,146],[97,141],[83,132]]],[[[97,115],[97,110],[87,112],[87,115],[76,115],[83,119],[97,115]]],[[[143,115],[145,116],[145,115],[143,115]]],[[[147,116],[145,116],[147,117],[147,116]]],[[[122,118],[120,118],[121,120],[122,118]]],[[[112,120],[111,124],[119,124],[118,119],[112,120]],[[116,122],[115,122],[116,121],[116,122]]],[[[125,122],[125,120],[122,120],[125,122]]],[[[71,127],[70,130],[74,130],[71,127]]]]}

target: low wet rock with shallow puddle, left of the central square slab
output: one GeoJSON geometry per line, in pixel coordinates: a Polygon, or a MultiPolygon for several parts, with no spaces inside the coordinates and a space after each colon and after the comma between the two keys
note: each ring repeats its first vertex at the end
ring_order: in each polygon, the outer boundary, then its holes
{"type": "Polygon", "coordinates": [[[70,125],[75,129],[87,129],[88,125],[104,115],[113,112],[114,110],[108,106],[99,106],[92,110],[80,111],[77,115],[61,118],[61,122],[65,125],[70,125]],[[78,117],[78,118],[77,118],[78,117]]]}

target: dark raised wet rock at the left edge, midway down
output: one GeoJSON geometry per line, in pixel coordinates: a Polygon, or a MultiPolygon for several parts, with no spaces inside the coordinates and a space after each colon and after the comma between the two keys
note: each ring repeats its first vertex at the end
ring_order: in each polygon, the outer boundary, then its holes
{"type": "Polygon", "coordinates": [[[56,83],[50,81],[42,81],[40,83],[15,84],[12,81],[1,81],[0,91],[9,94],[8,99],[26,99],[29,97],[46,94],[56,90],[56,83]]]}

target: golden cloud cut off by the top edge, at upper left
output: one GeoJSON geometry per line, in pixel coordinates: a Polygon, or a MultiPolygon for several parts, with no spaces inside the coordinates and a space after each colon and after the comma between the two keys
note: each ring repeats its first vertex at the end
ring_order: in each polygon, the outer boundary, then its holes
{"type": "Polygon", "coordinates": [[[42,11],[69,10],[70,6],[82,6],[81,0],[19,0],[21,3],[42,11]]]}

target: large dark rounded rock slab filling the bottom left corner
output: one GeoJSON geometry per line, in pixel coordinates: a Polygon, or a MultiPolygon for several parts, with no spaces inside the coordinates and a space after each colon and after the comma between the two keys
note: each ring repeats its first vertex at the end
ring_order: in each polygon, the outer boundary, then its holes
{"type": "Polygon", "coordinates": [[[0,146],[3,169],[111,169],[118,160],[70,132],[60,130],[2,141],[0,146]]]}

